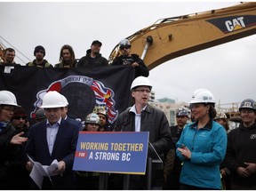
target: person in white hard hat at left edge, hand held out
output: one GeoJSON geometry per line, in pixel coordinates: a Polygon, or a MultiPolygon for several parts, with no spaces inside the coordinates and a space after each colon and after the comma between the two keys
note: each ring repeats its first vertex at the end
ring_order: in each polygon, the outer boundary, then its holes
{"type": "Polygon", "coordinates": [[[15,95],[9,91],[0,91],[0,189],[14,188],[10,170],[18,147],[28,140],[22,137],[24,132],[15,134],[15,128],[10,123],[16,107],[18,104],[15,95]]]}

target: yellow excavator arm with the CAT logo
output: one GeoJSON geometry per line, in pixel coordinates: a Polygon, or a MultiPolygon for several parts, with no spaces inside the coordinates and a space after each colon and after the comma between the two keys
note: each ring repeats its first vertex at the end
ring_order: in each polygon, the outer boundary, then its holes
{"type": "MultiPolygon", "coordinates": [[[[256,2],[250,2],[157,20],[127,39],[132,44],[132,53],[139,54],[150,70],[167,60],[255,33],[256,2]]],[[[109,60],[119,54],[117,44],[109,60]]]]}

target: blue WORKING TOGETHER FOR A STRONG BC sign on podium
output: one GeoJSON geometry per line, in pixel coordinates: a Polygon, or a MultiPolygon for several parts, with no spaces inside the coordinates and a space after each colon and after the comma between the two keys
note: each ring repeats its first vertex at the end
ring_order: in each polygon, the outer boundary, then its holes
{"type": "Polygon", "coordinates": [[[73,170],[145,174],[149,132],[79,132],[73,170]]]}

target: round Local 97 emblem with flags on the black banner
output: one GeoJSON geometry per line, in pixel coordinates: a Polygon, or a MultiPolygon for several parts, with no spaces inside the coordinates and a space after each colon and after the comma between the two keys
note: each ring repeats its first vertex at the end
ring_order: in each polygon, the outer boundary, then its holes
{"type": "Polygon", "coordinates": [[[37,100],[34,103],[34,111],[30,113],[31,117],[35,116],[36,110],[42,106],[44,94],[50,91],[60,92],[67,97],[68,110],[74,110],[75,115],[72,116],[74,118],[84,119],[87,114],[81,114],[84,112],[82,109],[86,108],[86,111],[89,111],[87,113],[90,113],[95,105],[105,106],[109,123],[115,121],[118,116],[118,111],[115,109],[115,92],[112,89],[88,76],[67,76],[52,82],[47,89],[36,93],[37,100]]]}

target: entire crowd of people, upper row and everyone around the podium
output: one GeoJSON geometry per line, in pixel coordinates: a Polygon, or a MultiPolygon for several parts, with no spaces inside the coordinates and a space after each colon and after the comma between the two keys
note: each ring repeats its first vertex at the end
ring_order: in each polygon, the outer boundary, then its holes
{"type": "MultiPolygon", "coordinates": [[[[60,50],[60,63],[54,68],[108,66],[100,55],[100,41],[76,60],[71,46],[60,50]]],[[[148,157],[161,158],[164,166],[152,170],[151,189],[256,189],[256,102],[246,99],[239,108],[241,123],[228,128],[228,118],[217,113],[215,99],[209,90],[198,89],[191,97],[189,109],[179,108],[177,125],[169,126],[164,112],[148,104],[152,84],[148,68],[138,55],[131,54],[127,39],[120,42],[122,55],[111,65],[135,68],[130,87],[133,105],[108,124],[108,113],[96,106],[81,121],[70,118],[68,100],[60,92],[44,95],[36,111],[36,124],[29,124],[27,112],[12,92],[0,91],[0,188],[38,189],[29,173],[33,164],[28,156],[44,165],[58,160],[54,176],[44,177],[42,189],[99,189],[99,172],[73,171],[79,131],[149,132],[148,157]],[[28,155],[28,156],[27,156],[28,155]]],[[[53,68],[44,60],[45,50],[36,46],[35,60],[27,66],[53,68]]],[[[4,63],[14,65],[15,51],[4,51],[4,63]]],[[[122,189],[124,174],[109,174],[108,189],[122,189]]],[[[144,175],[130,175],[129,189],[146,189],[144,175]]]]}

